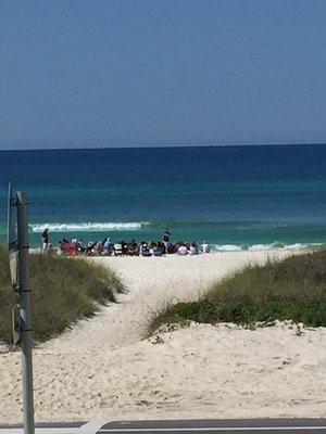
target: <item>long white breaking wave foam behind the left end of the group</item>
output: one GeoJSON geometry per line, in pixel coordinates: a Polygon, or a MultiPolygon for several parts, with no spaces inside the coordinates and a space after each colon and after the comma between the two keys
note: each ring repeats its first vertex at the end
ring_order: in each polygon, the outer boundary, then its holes
{"type": "Polygon", "coordinates": [[[106,231],[137,231],[147,222],[87,222],[87,224],[34,224],[29,225],[33,232],[40,233],[48,228],[50,232],[106,232],[106,231]]]}

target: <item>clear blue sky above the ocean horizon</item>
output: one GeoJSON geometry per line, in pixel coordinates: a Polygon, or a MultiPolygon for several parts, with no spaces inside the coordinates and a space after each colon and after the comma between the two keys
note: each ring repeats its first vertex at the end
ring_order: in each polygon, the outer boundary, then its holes
{"type": "Polygon", "coordinates": [[[8,1],[0,149],[326,142],[326,1],[8,1]]]}

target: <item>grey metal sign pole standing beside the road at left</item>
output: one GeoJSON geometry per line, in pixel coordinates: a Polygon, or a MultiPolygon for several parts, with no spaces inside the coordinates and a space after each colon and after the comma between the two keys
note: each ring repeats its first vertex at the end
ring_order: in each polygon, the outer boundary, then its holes
{"type": "Polygon", "coordinates": [[[23,356],[23,408],[24,433],[34,434],[34,399],[33,399],[33,366],[32,366],[32,311],[30,289],[28,285],[28,224],[27,195],[16,193],[17,229],[18,229],[18,276],[21,302],[21,342],[23,356]]]}

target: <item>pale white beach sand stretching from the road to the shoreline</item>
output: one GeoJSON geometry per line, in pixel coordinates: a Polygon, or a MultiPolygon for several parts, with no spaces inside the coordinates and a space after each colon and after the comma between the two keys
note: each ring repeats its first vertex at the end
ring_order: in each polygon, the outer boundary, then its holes
{"type": "MultiPolygon", "coordinates": [[[[285,256],[278,251],[268,255],[285,256]]],[[[128,293],[34,350],[37,421],[326,416],[326,329],[192,324],[140,336],[152,309],[189,299],[267,253],[97,258],[128,293]]],[[[0,421],[21,420],[21,357],[0,355],[0,421]]]]}

